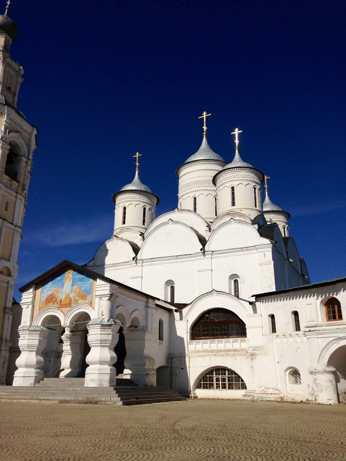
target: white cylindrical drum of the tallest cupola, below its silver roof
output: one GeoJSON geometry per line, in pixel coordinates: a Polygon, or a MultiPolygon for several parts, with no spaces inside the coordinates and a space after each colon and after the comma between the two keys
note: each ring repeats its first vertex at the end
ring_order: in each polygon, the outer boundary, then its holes
{"type": "Polygon", "coordinates": [[[222,160],[195,160],[181,165],[177,170],[178,209],[196,211],[207,221],[214,221],[216,187],[213,177],[225,163],[222,160]]]}

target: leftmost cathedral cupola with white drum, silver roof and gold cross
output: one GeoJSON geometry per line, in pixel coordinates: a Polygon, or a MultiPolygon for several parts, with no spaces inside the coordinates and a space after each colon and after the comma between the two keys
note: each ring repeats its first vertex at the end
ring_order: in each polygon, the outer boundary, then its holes
{"type": "Polygon", "coordinates": [[[149,224],[155,219],[156,205],[159,197],[151,192],[139,179],[138,157],[136,174],[132,183],[126,184],[112,196],[115,203],[114,234],[118,235],[122,229],[132,229],[144,233],[149,224]]]}

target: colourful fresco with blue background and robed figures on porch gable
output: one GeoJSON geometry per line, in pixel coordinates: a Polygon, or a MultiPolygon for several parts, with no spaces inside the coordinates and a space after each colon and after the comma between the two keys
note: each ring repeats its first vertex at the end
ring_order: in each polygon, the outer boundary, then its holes
{"type": "Polygon", "coordinates": [[[93,306],[94,282],[94,278],[71,268],[54,274],[36,287],[35,310],[58,307],[66,312],[81,302],[93,306]]]}

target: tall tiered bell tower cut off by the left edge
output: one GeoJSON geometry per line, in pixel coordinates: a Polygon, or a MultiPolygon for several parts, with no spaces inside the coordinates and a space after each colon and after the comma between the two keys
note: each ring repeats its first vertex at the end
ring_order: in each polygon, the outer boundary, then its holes
{"type": "Polygon", "coordinates": [[[6,384],[18,248],[37,129],[17,109],[24,69],[10,55],[18,28],[0,15],[0,384],[6,384]]]}

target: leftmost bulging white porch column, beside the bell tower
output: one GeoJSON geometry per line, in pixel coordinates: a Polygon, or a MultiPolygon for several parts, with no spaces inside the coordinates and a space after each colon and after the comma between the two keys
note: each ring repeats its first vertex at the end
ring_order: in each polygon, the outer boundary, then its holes
{"type": "Polygon", "coordinates": [[[41,370],[44,360],[41,356],[49,331],[44,326],[20,326],[19,349],[21,354],[16,360],[18,370],[14,373],[12,386],[34,386],[43,379],[41,370]]]}

